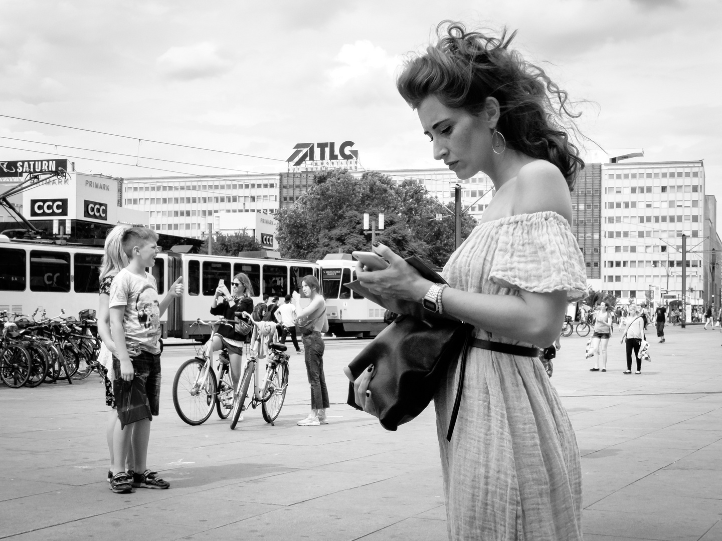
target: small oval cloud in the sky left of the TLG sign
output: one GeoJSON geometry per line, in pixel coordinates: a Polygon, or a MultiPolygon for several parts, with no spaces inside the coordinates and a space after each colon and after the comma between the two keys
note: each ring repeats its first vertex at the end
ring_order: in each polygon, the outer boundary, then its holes
{"type": "Polygon", "coordinates": [[[210,42],[186,47],[171,47],[157,58],[156,64],[169,79],[191,81],[224,74],[231,67],[210,42]]]}

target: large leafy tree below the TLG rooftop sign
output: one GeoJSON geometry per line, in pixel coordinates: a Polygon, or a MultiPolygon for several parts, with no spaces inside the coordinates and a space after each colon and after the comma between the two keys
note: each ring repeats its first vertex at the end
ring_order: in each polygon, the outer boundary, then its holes
{"type": "MultiPolygon", "coordinates": [[[[402,257],[416,254],[442,266],[454,250],[453,204],[443,206],[417,182],[396,183],[378,172],[357,179],[347,170],[319,172],[314,182],[295,206],[277,214],[283,257],[316,260],[339,250],[369,250],[364,213],[384,214],[385,228],[377,239],[402,257]],[[437,220],[437,214],[445,217],[437,220]]],[[[475,225],[474,218],[464,215],[462,237],[475,225]]]]}

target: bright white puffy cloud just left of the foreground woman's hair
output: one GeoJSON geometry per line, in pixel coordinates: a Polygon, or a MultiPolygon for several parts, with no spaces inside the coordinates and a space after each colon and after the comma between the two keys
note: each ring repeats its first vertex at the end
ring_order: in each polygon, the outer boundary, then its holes
{"type": "Polygon", "coordinates": [[[401,61],[389,55],[386,50],[373,45],[369,40],[357,40],[353,44],[342,45],[336,55],[339,66],[329,71],[331,87],[342,87],[355,79],[366,79],[370,74],[393,75],[393,70],[401,61]]]}

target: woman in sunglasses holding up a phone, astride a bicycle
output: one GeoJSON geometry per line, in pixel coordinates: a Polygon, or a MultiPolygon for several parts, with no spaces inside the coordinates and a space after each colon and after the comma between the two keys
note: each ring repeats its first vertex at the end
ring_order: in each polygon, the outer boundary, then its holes
{"type": "MultiPolygon", "coordinates": [[[[212,315],[218,315],[225,317],[227,320],[240,319],[247,316],[243,316],[243,312],[250,314],[253,312],[253,300],[250,298],[253,295],[253,286],[251,286],[251,280],[248,279],[244,273],[238,273],[233,276],[231,282],[231,291],[225,284],[219,284],[216,289],[216,294],[213,297],[211,303],[212,315]]],[[[245,335],[236,332],[233,325],[227,323],[221,323],[218,327],[216,335],[213,340],[209,340],[206,343],[206,352],[208,356],[212,358],[213,351],[218,351],[222,346],[226,346],[228,350],[228,357],[230,359],[230,376],[233,380],[233,387],[238,385],[238,380],[243,374],[243,343],[245,341],[245,335]]]]}

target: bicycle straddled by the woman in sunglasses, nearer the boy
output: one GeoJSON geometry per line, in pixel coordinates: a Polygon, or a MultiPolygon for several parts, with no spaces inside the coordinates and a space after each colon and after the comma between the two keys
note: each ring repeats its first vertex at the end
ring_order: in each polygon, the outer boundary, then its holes
{"type": "MultiPolygon", "coordinates": [[[[191,326],[208,325],[211,329],[211,338],[216,335],[214,325],[219,323],[234,323],[229,320],[202,321],[197,319],[191,326]]],[[[212,368],[213,355],[206,353],[206,344],[196,348],[196,356],[183,362],[175,373],[173,379],[173,405],[184,423],[197,426],[205,423],[213,412],[215,405],[219,418],[225,419],[230,415],[233,403],[233,382],[230,375],[230,359],[228,351],[223,346],[219,356],[219,377],[212,368]],[[220,382],[220,383],[218,383],[220,382]]]]}

